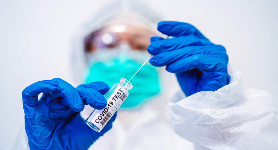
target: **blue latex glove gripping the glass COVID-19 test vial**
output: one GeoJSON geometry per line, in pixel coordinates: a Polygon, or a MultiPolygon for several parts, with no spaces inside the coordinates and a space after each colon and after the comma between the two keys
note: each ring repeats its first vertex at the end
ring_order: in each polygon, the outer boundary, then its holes
{"type": "Polygon", "coordinates": [[[39,81],[22,92],[25,130],[30,149],[88,149],[112,127],[116,113],[98,133],[81,118],[84,104],[102,109],[109,90],[104,82],[74,88],[62,79],[39,81]],[[43,93],[38,101],[39,93],[43,93]]]}

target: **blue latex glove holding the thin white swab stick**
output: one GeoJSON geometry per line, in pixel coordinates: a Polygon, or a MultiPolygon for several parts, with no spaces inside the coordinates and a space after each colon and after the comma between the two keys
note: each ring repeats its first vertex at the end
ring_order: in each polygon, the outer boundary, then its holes
{"type": "Polygon", "coordinates": [[[150,63],[175,73],[187,96],[229,84],[228,55],[223,46],[211,43],[191,24],[162,21],[157,29],[174,38],[151,37],[148,52],[154,56],[150,63]]]}

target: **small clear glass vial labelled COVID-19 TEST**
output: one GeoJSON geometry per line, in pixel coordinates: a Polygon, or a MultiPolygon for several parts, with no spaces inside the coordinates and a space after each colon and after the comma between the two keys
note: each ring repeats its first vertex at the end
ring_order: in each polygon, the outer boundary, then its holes
{"type": "Polygon", "coordinates": [[[96,132],[100,132],[105,124],[110,120],[114,113],[128,96],[128,90],[132,88],[132,84],[125,78],[120,79],[120,83],[114,84],[106,93],[105,98],[107,105],[103,109],[94,109],[94,111],[86,119],[86,124],[96,132]]]}

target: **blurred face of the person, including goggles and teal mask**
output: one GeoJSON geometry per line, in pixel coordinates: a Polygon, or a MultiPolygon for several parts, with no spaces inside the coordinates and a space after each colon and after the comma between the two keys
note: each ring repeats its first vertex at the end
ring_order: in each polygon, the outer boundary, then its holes
{"type": "MultiPolygon", "coordinates": [[[[147,47],[153,35],[145,28],[125,24],[105,26],[88,35],[85,45],[89,70],[85,82],[103,81],[112,87],[121,78],[131,79],[149,57],[147,47]]],[[[121,109],[139,108],[150,100],[149,97],[159,93],[157,68],[145,64],[131,84],[133,88],[121,109]]]]}

